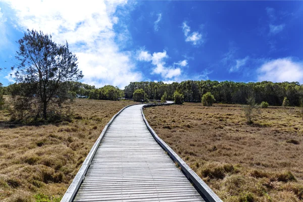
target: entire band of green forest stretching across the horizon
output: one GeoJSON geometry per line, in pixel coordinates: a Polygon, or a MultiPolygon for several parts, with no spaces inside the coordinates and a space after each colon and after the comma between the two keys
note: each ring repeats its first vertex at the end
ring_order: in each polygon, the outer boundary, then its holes
{"type": "MultiPolygon", "coordinates": [[[[16,88],[22,84],[11,84],[2,87],[3,94],[17,93],[16,88]]],[[[73,97],[118,100],[121,98],[133,98],[136,89],[143,89],[148,99],[161,99],[164,92],[167,99],[174,99],[174,92],[177,91],[184,95],[185,102],[201,102],[201,97],[206,92],[211,92],[216,99],[216,103],[226,104],[246,104],[248,96],[255,97],[256,103],[268,102],[271,106],[281,106],[283,98],[287,97],[290,106],[299,106],[300,98],[303,96],[303,85],[298,82],[273,83],[270,81],[262,82],[233,82],[233,81],[182,81],[166,84],[162,81],[141,81],[130,82],[124,90],[112,85],[96,88],[88,84],[77,81],[65,82],[69,93],[73,97]]]]}

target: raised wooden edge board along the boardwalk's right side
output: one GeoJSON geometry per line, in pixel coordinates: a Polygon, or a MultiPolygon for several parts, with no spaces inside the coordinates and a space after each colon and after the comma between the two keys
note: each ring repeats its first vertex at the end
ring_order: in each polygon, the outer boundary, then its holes
{"type": "MultiPolygon", "coordinates": [[[[165,104],[159,104],[159,105],[172,105],[173,102],[165,103],[165,104]]],[[[147,104],[142,107],[141,113],[143,120],[146,124],[147,129],[153,135],[155,140],[160,144],[160,146],[167,151],[169,156],[181,167],[182,171],[187,175],[187,177],[196,185],[196,187],[207,197],[207,199],[211,202],[223,202],[219,196],[193,171],[191,168],[175,153],[175,151],[167,145],[158,135],[157,133],[151,128],[145,119],[145,116],[143,114],[143,108],[146,107],[153,107],[157,106],[157,104],[147,104]]]]}

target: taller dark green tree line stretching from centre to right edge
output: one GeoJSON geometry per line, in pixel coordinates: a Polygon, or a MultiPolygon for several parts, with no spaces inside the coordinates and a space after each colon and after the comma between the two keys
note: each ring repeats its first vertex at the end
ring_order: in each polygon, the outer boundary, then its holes
{"type": "Polygon", "coordinates": [[[202,96],[211,92],[217,103],[246,104],[246,98],[255,97],[256,103],[268,102],[272,106],[281,106],[284,97],[289,100],[290,106],[299,106],[303,96],[303,85],[298,82],[273,83],[262,82],[233,82],[233,81],[182,81],[166,84],[163,82],[131,82],[125,86],[125,98],[132,98],[136,89],[143,89],[148,99],[161,99],[166,92],[168,100],[174,100],[177,91],[183,94],[185,102],[201,102],[202,96]]]}

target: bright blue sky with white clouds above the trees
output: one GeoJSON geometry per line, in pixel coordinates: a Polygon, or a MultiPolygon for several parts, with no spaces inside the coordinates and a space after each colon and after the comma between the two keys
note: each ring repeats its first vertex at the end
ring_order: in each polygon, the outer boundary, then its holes
{"type": "Polygon", "coordinates": [[[0,82],[29,29],[69,42],[82,82],[303,83],[303,2],[0,0],[0,82]],[[58,7],[60,5],[60,7],[58,7]],[[9,61],[9,62],[4,62],[9,61]]]}

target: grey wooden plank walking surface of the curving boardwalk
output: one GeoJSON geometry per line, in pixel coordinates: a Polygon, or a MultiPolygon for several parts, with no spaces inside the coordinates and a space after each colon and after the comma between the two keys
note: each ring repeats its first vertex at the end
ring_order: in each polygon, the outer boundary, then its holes
{"type": "Polygon", "coordinates": [[[147,130],[141,108],[114,119],[74,201],[205,201],[147,130]]]}

